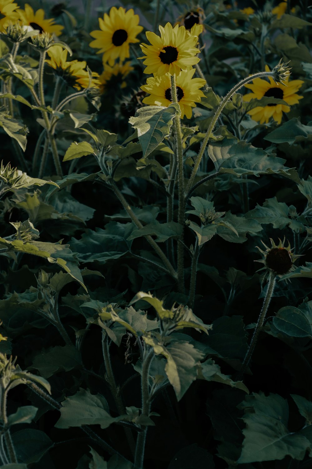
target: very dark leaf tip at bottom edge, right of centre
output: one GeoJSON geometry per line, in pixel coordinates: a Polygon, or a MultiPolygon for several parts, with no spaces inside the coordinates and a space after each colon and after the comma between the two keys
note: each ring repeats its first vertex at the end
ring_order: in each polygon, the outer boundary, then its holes
{"type": "Polygon", "coordinates": [[[193,445],[180,449],[170,461],[168,469],[214,469],[213,457],[206,449],[193,445]]]}

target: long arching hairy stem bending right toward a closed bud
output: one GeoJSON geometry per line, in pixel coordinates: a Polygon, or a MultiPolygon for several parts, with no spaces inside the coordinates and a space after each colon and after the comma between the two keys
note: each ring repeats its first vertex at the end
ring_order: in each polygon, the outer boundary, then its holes
{"type": "Polygon", "coordinates": [[[236,91],[238,91],[240,88],[242,88],[246,83],[249,83],[249,82],[252,82],[255,78],[262,78],[262,77],[265,77],[265,76],[274,76],[274,73],[273,72],[259,72],[259,73],[254,73],[254,75],[251,75],[251,76],[247,76],[246,78],[244,78],[243,80],[241,80],[239,83],[237,83],[233,88],[232,90],[230,90],[227,95],[225,96],[225,98],[222,99],[222,101],[220,102],[219,106],[218,106],[218,109],[217,111],[215,112],[213,118],[212,118],[212,121],[210,122],[210,126],[208,127],[207,129],[207,132],[206,132],[206,135],[204,136],[204,139],[203,139],[203,142],[202,142],[202,145],[201,145],[201,148],[199,150],[199,153],[198,153],[198,156],[197,156],[197,159],[196,159],[196,162],[195,162],[195,165],[193,167],[193,171],[192,171],[192,174],[189,178],[189,184],[188,184],[188,187],[187,187],[187,193],[189,192],[189,190],[191,189],[192,185],[193,185],[193,182],[194,182],[194,179],[195,179],[195,176],[196,176],[196,173],[198,171],[198,168],[199,168],[199,165],[200,165],[200,162],[203,158],[203,153],[205,151],[205,148],[207,146],[207,143],[208,143],[208,140],[210,138],[210,135],[211,135],[211,132],[212,130],[214,129],[215,125],[216,125],[216,122],[218,121],[218,118],[220,116],[220,114],[222,113],[226,103],[229,101],[229,99],[232,98],[232,96],[236,93],[236,91]]]}

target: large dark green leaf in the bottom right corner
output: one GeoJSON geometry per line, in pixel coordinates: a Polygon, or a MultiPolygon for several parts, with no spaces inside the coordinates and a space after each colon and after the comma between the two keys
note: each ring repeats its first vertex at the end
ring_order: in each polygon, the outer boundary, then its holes
{"type": "Polygon", "coordinates": [[[301,461],[305,457],[310,442],[299,432],[288,430],[289,408],[285,399],[278,394],[254,394],[246,397],[241,408],[245,409],[246,428],[240,464],[281,460],[285,456],[301,461]]]}

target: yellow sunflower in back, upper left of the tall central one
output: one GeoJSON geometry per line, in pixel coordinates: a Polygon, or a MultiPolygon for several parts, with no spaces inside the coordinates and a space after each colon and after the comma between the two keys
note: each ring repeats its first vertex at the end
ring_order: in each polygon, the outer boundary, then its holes
{"type": "Polygon", "coordinates": [[[138,34],[143,30],[143,26],[138,26],[139,17],[134,14],[133,9],[126,11],[125,8],[112,7],[109,15],[104,13],[104,18],[99,18],[101,30],[90,32],[90,36],[95,38],[90,42],[90,47],[100,49],[97,53],[103,54],[103,62],[109,62],[112,67],[115,59],[123,62],[130,57],[129,44],[139,42],[138,34]]]}

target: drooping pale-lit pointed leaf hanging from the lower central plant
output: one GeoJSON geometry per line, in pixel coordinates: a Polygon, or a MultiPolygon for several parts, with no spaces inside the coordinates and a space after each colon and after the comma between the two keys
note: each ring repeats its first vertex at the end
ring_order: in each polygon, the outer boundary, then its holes
{"type": "Polygon", "coordinates": [[[143,339],[152,346],[156,355],[167,358],[165,366],[167,378],[174,388],[177,400],[180,401],[196,379],[197,366],[204,357],[203,352],[194,348],[189,342],[171,340],[165,347],[151,336],[143,336],[143,339]]]}

